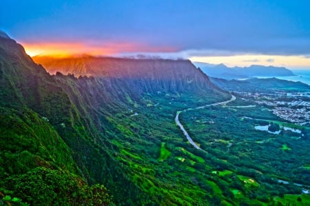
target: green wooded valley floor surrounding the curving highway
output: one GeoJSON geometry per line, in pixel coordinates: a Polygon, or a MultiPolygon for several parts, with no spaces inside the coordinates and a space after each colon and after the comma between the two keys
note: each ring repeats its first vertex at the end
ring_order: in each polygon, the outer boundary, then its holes
{"type": "MultiPolygon", "coordinates": [[[[240,97],[194,107],[171,96],[147,102],[143,111],[132,111],[137,116],[120,120],[131,134],[127,143],[114,143],[125,151],[119,159],[132,168],[136,184],[165,196],[162,205],[285,204],[285,194],[306,201],[300,194],[309,189],[309,141],[289,130],[255,130],[262,118],[281,121],[267,107],[240,97]]],[[[304,132],[307,127],[307,137],[304,132]]]]}

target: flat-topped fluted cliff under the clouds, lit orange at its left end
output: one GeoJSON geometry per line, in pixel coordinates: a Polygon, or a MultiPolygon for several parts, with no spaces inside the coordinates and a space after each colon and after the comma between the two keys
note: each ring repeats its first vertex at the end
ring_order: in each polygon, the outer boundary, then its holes
{"type": "MultiPolygon", "coordinates": [[[[189,60],[169,59],[121,59],[112,57],[82,56],[54,59],[48,56],[34,57],[48,72],[94,76],[112,83],[123,81],[125,86],[140,92],[196,92],[218,90],[207,75],[189,60]]],[[[116,83],[117,85],[117,83],[116,83]]]]}

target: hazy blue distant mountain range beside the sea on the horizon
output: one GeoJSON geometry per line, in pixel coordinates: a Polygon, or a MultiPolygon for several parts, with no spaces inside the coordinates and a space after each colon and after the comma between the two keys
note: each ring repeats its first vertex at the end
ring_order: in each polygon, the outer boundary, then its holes
{"type": "Polygon", "coordinates": [[[242,79],[254,76],[293,76],[293,72],[287,68],[273,66],[250,65],[249,67],[229,68],[225,64],[194,62],[196,67],[201,68],[205,74],[222,79],[242,79]]]}

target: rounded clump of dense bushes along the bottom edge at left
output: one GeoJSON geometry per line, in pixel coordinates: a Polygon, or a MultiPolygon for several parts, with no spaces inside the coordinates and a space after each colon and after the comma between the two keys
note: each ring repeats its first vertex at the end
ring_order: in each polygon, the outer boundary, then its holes
{"type": "MultiPolygon", "coordinates": [[[[6,189],[31,205],[110,205],[103,185],[86,185],[72,174],[37,167],[6,180],[6,189]]],[[[14,198],[12,199],[12,201],[14,198]]]]}

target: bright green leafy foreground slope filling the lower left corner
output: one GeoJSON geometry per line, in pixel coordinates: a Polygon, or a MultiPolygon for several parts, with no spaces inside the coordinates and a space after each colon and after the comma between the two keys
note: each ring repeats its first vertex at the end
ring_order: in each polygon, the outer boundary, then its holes
{"type": "Polygon", "coordinates": [[[89,186],[81,178],[69,148],[47,121],[31,110],[4,107],[0,117],[2,204],[111,204],[103,185],[89,186]]]}

